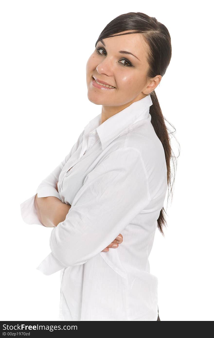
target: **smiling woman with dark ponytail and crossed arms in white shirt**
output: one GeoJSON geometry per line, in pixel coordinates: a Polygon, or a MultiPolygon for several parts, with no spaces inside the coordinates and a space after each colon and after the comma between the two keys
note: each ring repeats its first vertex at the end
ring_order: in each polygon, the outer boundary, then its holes
{"type": "Polygon", "coordinates": [[[86,66],[88,99],[101,114],[21,204],[26,223],[54,227],[37,269],[61,271],[62,320],[160,320],[148,256],[165,225],[171,147],[154,89],[170,58],[156,18],[112,20],[86,66]]]}

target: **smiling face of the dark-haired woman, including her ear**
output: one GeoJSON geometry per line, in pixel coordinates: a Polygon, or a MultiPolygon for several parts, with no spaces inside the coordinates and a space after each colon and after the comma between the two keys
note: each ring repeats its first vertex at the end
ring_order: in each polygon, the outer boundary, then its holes
{"type": "MultiPolygon", "coordinates": [[[[126,31],[126,32],[131,32],[126,31]]],[[[124,33],[124,32],[121,32],[124,33]]],[[[121,106],[142,99],[158,85],[147,82],[146,44],[141,34],[125,34],[98,41],[86,64],[88,99],[104,106],[121,106]],[[126,51],[128,53],[120,52],[126,51]],[[129,54],[132,53],[135,56],[129,54]],[[115,87],[100,89],[93,78],[115,87]],[[151,87],[148,87],[151,84],[151,87]]]]}

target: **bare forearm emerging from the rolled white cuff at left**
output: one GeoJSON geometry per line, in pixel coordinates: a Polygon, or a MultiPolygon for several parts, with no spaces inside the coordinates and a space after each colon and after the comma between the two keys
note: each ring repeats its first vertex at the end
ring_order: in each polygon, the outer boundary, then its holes
{"type": "Polygon", "coordinates": [[[35,208],[40,222],[44,226],[53,227],[65,220],[71,206],[54,196],[37,197],[36,195],[35,208]]]}

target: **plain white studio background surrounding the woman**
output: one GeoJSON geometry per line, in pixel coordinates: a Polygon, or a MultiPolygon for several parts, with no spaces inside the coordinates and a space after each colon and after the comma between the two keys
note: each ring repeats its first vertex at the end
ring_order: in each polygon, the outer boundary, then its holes
{"type": "MultiPolygon", "coordinates": [[[[58,319],[60,272],[46,276],[36,269],[50,252],[52,228],[24,223],[20,203],[35,194],[84,126],[101,113],[87,98],[86,62],[106,24],[129,11],[156,17],[172,41],[170,65],[156,88],[181,148],[167,209],[165,200],[165,238],[157,230],[150,254],[150,272],[159,279],[160,319],[213,320],[209,6],[208,1],[1,1],[1,320],[58,319]]],[[[177,155],[178,144],[172,143],[177,155]]]]}

